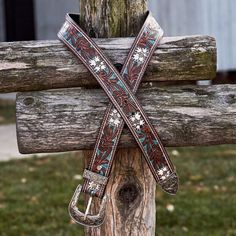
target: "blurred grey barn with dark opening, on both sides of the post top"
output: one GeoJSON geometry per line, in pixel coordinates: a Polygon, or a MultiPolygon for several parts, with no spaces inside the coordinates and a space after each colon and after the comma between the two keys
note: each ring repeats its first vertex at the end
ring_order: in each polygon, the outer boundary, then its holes
{"type": "MultiPolygon", "coordinates": [[[[236,70],[235,0],[149,0],[166,36],[207,34],[217,39],[218,71],[236,70]]],[[[56,39],[66,12],[79,0],[0,0],[0,41],[56,39]]]]}

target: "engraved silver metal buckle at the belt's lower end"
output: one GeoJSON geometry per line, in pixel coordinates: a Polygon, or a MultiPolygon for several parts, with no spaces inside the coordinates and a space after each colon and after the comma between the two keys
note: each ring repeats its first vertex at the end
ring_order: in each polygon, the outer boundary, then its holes
{"type": "Polygon", "coordinates": [[[75,190],[75,193],[70,201],[68,211],[70,217],[78,224],[87,226],[87,227],[98,227],[102,225],[105,220],[105,212],[106,212],[106,205],[107,205],[107,196],[105,195],[102,198],[101,206],[97,215],[90,215],[89,209],[92,203],[93,197],[90,196],[88,205],[86,207],[85,213],[81,212],[78,207],[76,206],[79,200],[79,196],[82,190],[82,185],[78,185],[75,190]]]}

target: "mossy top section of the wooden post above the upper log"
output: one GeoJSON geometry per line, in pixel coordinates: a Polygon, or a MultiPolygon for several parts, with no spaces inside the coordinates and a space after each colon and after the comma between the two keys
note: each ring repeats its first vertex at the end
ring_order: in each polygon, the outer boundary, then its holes
{"type": "Polygon", "coordinates": [[[90,37],[136,36],[141,29],[147,0],[80,0],[81,26],[90,37]]]}

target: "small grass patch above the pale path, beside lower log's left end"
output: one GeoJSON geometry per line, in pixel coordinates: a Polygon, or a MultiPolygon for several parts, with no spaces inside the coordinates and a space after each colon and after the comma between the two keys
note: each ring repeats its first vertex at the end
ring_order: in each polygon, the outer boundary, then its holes
{"type": "Polygon", "coordinates": [[[15,123],[15,102],[0,99],[0,125],[15,123]]]}

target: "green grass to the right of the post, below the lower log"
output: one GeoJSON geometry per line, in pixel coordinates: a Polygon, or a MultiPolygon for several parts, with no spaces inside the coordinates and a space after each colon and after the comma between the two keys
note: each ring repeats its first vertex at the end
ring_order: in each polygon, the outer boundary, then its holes
{"type": "Polygon", "coordinates": [[[176,197],[158,191],[156,235],[236,235],[236,147],[179,148],[176,197]],[[173,204],[171,213],[165,208],[173,204]]]}

